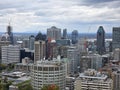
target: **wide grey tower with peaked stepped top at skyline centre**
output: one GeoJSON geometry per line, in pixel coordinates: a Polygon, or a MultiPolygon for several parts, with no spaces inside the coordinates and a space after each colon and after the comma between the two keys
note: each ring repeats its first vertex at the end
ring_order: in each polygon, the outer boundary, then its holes
{"type": "Polygon", "coordinates": [[[61,39],[61,29],[52,26],[47,29],[47,39],[59,40],[61,39]]]}

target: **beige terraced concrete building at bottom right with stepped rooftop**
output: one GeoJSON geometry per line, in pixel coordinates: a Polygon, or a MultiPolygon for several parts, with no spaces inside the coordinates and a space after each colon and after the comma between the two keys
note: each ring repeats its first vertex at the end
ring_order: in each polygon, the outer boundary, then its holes
{"type": "Polygon", "coordinates": [[[80,73],[74,85],[74,90],[113,90],[112,79],[93,69],[80,73]]]}

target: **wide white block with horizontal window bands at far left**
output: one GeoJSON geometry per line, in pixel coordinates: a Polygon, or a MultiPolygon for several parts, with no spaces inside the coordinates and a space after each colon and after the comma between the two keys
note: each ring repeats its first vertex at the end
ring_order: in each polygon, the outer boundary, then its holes
{"type": "Polygon", "coordinates": [[[20,62],[20,47],[19,46],[2,46],[2,63],[17,63],[20,62]]]}

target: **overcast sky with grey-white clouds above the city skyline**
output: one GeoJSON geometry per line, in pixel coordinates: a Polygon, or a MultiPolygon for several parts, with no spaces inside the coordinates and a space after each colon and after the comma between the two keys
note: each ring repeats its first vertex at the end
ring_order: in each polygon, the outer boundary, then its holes
{"type": "Polygon", "coordinates": [[[46,32],[56,26],[69,32],[96,33],[119,27],[120,0],[0,0],[0,32],[9,21],[13,32],[46,32]]]}

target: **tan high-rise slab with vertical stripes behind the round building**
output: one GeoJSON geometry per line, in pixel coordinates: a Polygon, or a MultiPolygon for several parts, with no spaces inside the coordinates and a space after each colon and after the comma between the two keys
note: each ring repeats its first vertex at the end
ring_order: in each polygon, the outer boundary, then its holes
{"type": "Polygon", "coordinates": [[[34,63],[45,58],[45,41],[35,41],[34,63]]]}

